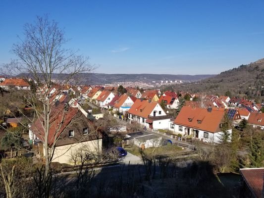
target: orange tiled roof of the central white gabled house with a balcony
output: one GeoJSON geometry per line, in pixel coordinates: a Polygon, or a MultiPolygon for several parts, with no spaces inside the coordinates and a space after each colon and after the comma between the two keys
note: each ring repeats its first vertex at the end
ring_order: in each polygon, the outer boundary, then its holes
{"type": "MultiPolygon", "coordinates": [[[[149,102],[149,100],[137,99],[128,110],[128,113],[139,117],[148,118],[158,102],[149,102]]],[[[158,104],[159,105],[159,104],[158,104]]]]}

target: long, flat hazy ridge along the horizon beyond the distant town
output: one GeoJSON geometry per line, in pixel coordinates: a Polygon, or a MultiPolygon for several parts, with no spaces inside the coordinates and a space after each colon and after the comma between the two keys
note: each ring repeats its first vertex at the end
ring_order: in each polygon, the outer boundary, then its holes
{"type": "MultiPolygon", "coordinates": [[[[61,75],[60,80],[62,80],[67,74],[61,75]]],[[[27,74],[19,74],[18,77],[30,77],[27,74]]],[[[214,75],[171,75],[171,74],[104,74],[104,73],[82,73],[78,74],[77,79],[79,79],[79,84],[105,84],[114,82],[152,82],[152,81],[189,81],[195,82],[202,79],[212,77],[214,75]]],[[[54,74],[53,79],[57,78],[57,74],[54,74]]]]}

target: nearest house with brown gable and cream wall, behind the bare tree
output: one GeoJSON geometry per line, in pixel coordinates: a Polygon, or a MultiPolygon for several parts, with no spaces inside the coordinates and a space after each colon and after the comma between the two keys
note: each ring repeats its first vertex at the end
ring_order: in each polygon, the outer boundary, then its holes
{"type": "MultiPolygon", "coordinates": [[[[53,162],[69,163],[71,153],[85,147],[92,152],[102,151],[102,135],[94,129],[93,123],[74,107],[53,106],[50,117],[48,143],[54,148],[53,162]],[[62,122],[63,120],[63,122],[62,122]],[[58,137],[55,139],[55,137],[58,137]]],[[[29,139],[38,145],[40,154],[45,155],[42,118],[29,128],[29,139]]]]}

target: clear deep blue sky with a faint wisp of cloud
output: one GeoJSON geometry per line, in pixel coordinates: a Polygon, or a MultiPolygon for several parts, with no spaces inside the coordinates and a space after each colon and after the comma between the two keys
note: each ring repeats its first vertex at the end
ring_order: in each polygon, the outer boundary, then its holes
{"type": "Polygon", "coordinates": [[[264,0],[0,0],[0,65],[49,15],[96,73],[218,74],[264,58],[264,0]]]}

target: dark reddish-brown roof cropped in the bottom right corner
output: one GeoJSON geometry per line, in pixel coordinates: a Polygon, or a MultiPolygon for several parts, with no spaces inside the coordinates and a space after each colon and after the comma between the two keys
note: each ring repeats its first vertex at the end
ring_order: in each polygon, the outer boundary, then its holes
{"type": "Polygon", "coordinates": [[[262,198],[264,168],[243,168],[240,173],[255,198],[262,198]]]}

